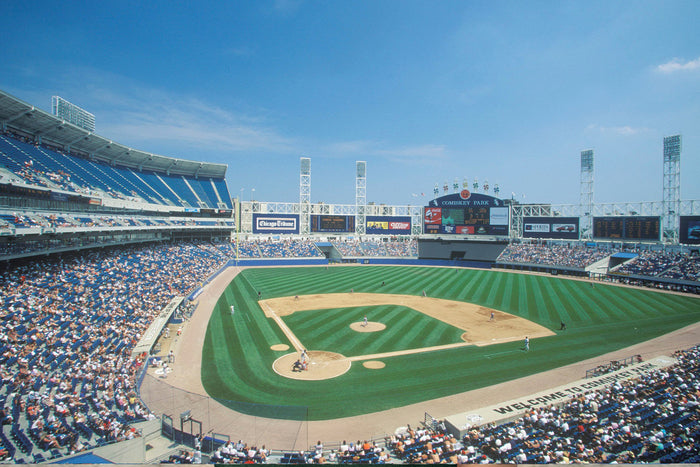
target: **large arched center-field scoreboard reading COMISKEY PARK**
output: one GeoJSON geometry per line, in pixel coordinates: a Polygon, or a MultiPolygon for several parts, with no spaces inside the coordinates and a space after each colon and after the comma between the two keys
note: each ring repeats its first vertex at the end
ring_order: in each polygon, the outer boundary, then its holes
{"type": "Polygon", "coordinates": [[[423,232],[427,234],[508,235],[510,210],[493,196],[460,193],[434,199],[423,208],[423,232]]]}

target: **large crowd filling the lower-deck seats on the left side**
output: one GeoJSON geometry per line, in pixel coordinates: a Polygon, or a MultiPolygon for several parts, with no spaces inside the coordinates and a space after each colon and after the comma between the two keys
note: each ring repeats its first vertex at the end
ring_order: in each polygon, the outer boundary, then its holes
{"type": "Polygon", "coordinates": [[[145,245],[3,271],[0,449],[41,461],[138,436],[130,423],[152,415],[135,392],[145,356],[131,349],[227,253],[229,244],[145,245]]]}

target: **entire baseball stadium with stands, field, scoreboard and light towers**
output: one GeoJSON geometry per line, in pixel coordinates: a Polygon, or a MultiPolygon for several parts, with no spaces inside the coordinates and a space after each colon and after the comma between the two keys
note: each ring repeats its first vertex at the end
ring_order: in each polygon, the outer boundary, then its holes
{"type": "Polygon", "coordinates": [[[1,91],[0,123],[3,462],[700,462],[680,135],[659,201],[595,203],[583,150],[576,205],[394,206],[366,161],[352,204],[308,157],[298,199],[244,201],[1,91]]]}

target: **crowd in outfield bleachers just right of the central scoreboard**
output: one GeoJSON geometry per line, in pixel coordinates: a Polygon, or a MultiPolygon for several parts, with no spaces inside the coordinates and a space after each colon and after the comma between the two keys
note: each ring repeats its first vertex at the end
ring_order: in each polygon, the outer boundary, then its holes
{"type": "Polygon", "coordinates": [[[511,243],[498,256],[501,263],[529,263],[584,269],[612,252],[585,245],[511,243]]]}

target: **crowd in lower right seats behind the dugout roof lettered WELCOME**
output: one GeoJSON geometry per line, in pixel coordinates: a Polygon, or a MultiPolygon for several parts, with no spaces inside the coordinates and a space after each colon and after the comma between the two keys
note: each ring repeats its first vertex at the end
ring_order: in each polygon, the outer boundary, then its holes
{"type": "Polygon", "coordinates": [[[678,363],[531,409],[509,423],[474,427],[461,440],[444,429],[390,440],[410,463],[693,463],[700,461],[700,347],[678,363]]]}

